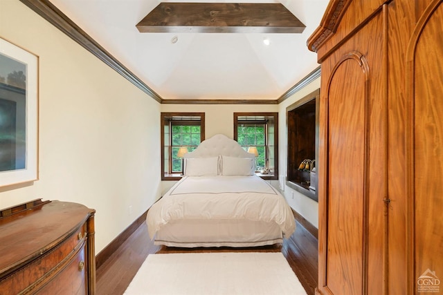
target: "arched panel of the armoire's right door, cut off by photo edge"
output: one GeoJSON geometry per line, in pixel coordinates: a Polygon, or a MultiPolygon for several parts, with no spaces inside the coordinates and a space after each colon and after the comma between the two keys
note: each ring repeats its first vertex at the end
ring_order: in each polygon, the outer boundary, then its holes
{"type": "Polygon", "coordinates": [[[443,1],[427,2],[406,51],[408,294],[443,293],[443,1]]]}

